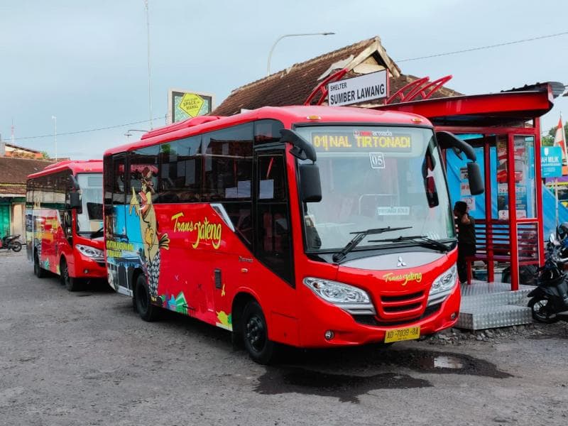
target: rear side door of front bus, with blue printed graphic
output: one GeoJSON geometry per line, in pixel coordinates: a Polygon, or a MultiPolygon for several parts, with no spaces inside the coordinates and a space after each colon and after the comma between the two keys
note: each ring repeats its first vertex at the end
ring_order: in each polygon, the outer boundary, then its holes
{"type": "Polygon", "coordinates": [[[109,284],[124,295],[132,295],[129,265],[135,253],[129,250],[126,236],[126,155],[113,155],[104,163],[104,234],[107,236],[109,284]]]}

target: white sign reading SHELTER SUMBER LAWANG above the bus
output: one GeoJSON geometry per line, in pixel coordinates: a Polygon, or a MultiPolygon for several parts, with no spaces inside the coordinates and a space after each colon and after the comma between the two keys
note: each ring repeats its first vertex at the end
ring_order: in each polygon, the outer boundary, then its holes
{"type": "Polygon", "coordinates": [[[368,102],[388,96],[386,70],[360,77],[347,78],[327,85],[327,103],[330,107],[368,102]]]}

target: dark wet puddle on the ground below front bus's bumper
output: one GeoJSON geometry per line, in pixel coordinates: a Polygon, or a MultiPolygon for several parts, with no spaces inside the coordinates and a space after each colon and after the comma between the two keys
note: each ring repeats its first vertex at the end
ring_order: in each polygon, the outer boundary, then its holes
{"type": "Polygon", "coordinates": [[[359,403],[359,396],[375,389],[427,388],[430,381],[417,373],[466,374],[491,378],[512,377],[494,364],[465,354],[415,349],[344,348],[302,351],[288,364],[268,367],[255,391],[264,395],[302,393],[334,396],[359,403]],[[378,372],[377,372],[378,371],[378,372]],[[369,372],[375,374],[369,375],[369,372]]]}

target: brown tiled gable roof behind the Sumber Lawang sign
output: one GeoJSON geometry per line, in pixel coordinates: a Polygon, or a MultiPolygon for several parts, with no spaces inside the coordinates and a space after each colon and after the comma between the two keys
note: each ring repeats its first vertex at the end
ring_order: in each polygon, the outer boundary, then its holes
{"type": "MultiPolygon", "coordinates": [[[[341,64],[336,67],[332,66],[341,61],[344,61],[343,64],[350,63],[354,67],[354,70],[350,71],[345,77],[359,75],[358,71],[366,66],[386,65],[392,76],[390,80],[391,94],[417,79],[413,75],[402,75],[398,65],[386,54],[380,38],[373,37],[295,64],[287,70],[276,72],[266,78],[239,87],[229,94],[229,97],[212,112],[212,115],[229,116],[238,114],[241,109],[256,109],[266,106],[301,105],[312,93],[312,90],[317,87],[317,84],[327,77],[324,72],[330,68],[340,70],[345,66],[341,64]],[[322,75],[324,76],[322,77],[322,75]]],[[[459,92],[443,87],[432,97],[449,97],[459,94],[459,92]]]]}

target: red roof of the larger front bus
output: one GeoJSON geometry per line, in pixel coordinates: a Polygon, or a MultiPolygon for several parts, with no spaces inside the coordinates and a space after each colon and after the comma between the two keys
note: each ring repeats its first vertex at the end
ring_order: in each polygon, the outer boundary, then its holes
{"type": "Polygon", "coordinates": [[[174,141],[207,131],[224,129],[237,124],[261,119],[280,120],[285,127],[292,124],[317,124],[321,121],[338,123],[369,123],[369,124],[408,124],[410,126],[432,126],[428,119],[416,114],[398,111],[378,111],[359,107],[325,107],[325,106],[293,106],[293,107],[262,107],[245,111],[233,116],[197,116],[192,119],[163,126],[144,133],[140,141],[116,146],[105,151],[104,155],[132,151],[156,143],[174,141]],[[311,119],[318,116],[320,119],[311,119]]]}

